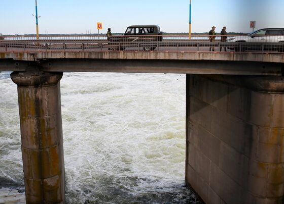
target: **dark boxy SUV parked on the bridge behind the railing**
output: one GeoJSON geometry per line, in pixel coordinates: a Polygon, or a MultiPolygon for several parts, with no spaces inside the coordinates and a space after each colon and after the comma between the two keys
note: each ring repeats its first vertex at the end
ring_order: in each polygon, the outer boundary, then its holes
{"type": "Polygon", "coordinates": [[[163,32],[158,25],[132,25],[127,27],[124,35],[110,36],[109,41],[113,49],[124,50],[126,47],[137,45],[144,50],[150,51],[157,47],[157,41],[162,41],[163,32]],[[119,42],[119,43],[113,43],[119,42]],[[118,45],[118,46],[117,46],[118,45]]]}

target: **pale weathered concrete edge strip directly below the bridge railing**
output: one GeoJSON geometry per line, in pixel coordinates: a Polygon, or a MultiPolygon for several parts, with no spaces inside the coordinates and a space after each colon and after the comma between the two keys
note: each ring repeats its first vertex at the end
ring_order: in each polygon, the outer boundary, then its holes
{"type": "Polygon", "coordinates": [[[252,61],[284,63],[284,55],[262,53],[214,53],[214,52],[34,52],[0,53],[0,59],[37,61],[42,59],[120,59],[120,60],[209,60],[252,61]]]}

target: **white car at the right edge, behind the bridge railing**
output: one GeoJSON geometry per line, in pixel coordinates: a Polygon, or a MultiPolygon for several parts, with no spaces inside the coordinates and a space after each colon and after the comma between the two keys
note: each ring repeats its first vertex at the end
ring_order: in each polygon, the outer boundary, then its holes
{"type": "Polygon", "coordinates": [[[264,28],[248,35],[228,37],[228,49],[284,52],[284,28],[264,28]]]}

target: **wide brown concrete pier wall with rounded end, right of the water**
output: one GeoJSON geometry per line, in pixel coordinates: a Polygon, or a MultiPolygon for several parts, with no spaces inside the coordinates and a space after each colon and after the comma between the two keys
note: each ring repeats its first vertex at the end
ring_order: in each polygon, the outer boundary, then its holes
{"type": "Polygon", "coordinates": [[[186,182],[206,203],[282,203],[284,77],[187,75],[186,182]]]}

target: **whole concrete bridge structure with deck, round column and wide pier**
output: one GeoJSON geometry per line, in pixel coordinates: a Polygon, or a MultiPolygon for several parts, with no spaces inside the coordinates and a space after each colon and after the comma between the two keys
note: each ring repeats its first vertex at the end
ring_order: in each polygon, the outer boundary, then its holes
{"type": "Polygon", "coordinates": [[[283,202],[284,53],[94,41],[0,41],[0,72],[18,86],[27,203],[64,203],[63,72],[186,74],[187,185],[206,203],[283,202]]]}

